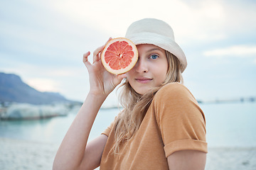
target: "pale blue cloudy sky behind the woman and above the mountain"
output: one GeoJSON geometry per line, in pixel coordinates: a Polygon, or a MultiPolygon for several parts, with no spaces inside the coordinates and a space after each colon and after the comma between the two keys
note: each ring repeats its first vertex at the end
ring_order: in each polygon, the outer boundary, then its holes
{"type": "MultiPolygon", "coordinates": [[[[0,1],[0,72],[84,101],[90,85],[82,55],[124,37],[134,21],[158,18],[187,57],[184,85],[195,98],[255,97],[255,8],[252,0],[0,1]]],[[[115,105],[116,95],[104,104],[115,105]]]]}

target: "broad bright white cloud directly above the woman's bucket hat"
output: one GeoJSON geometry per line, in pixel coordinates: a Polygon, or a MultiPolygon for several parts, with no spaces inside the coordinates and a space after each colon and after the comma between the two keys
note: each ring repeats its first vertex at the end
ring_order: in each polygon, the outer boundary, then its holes
{"type": "Polygon", "coordinates": [[[151,0],[56,0],[44,1],[41,5],[75,24],[89,26],[113,37],[124,36],[127,27],[134,21],[159,18],[174,28],[176,39],[182,39],[182,43],[190,42],[191,38],[225,38],[225,34],[217,31],[226,21],[226,6],[222,1],[198,1],[196,6],[193,6],[179,0],[159,0],[158,3],[151,0]]]}

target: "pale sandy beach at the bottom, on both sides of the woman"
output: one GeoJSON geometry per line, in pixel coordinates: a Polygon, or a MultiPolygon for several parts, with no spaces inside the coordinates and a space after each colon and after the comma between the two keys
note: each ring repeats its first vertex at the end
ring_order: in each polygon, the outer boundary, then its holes
{"type": "MultiPolygon", "coordinates": [[[[0,169],[52,169],[58,145],[0,138],[0,169]]],[[[256,147],[209,148],[206,170],[255,170],[256,147]]]]}

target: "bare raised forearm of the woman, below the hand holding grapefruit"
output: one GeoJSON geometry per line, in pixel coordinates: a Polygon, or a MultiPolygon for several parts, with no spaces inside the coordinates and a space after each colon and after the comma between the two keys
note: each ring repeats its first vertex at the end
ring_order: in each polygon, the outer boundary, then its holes
{"type": "Polygon", "coordinates": [[[58,149],[53,169],[77,169],[80,166],[92,124],[105,98],[88,94],[58,149]]]}

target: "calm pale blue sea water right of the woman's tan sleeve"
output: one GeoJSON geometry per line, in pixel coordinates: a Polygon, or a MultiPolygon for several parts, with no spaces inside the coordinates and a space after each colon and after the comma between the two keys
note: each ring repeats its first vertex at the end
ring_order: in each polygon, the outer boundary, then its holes
{"type": "Polygon", "coordinates": [[[209,147],[256,147],[256,103],[202,104],[209,147]]]}

